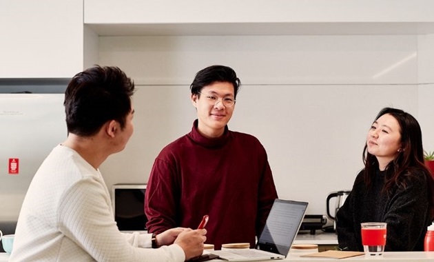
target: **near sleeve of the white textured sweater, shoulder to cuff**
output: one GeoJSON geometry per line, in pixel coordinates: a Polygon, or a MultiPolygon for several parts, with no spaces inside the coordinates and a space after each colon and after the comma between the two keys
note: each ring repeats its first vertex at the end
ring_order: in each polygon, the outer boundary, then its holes
{"type": "MultiPolygon", "coordinates": [[[[119,232],[101,181],[86,178],[74,183],[59,203],[59,230],[96,261],[184,261],[178,245],[149,246],[147,234],[119,232]]],[[[108,199],[110,200],[110,199],[108,199]]]]}

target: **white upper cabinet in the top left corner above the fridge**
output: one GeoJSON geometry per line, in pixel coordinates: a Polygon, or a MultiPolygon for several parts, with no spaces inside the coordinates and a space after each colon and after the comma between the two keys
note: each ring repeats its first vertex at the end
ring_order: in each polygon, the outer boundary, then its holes
{"type": "Polygon", "coordinates": [[[83,0],[0,1],[0,78],[70,78],[83,70],[83,0]]]}

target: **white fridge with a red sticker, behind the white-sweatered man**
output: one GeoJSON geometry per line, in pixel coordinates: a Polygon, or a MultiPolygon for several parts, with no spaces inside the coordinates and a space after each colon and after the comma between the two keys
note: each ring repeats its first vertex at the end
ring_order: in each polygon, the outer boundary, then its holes
{"type": "Polygon", "coordinates": [[[16,221],[43,159],[67,137],[64,94],[0,94],[0,221],[16,221]]]}

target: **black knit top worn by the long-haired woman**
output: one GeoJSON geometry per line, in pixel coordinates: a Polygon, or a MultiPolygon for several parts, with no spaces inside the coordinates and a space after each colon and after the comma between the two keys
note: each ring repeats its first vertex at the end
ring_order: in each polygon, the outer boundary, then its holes
{"type": "Polygon", "coordinates": [[[340,248],[363,251],[360,223],[386,222],[385,251],[423,251],[426,228],[431,225],[425,174],[405,176],[406,188],[394,185],[389,194],[382,192],[385,172],[377,171],[369,188],[362,174],[336,214],[340,248]]]}

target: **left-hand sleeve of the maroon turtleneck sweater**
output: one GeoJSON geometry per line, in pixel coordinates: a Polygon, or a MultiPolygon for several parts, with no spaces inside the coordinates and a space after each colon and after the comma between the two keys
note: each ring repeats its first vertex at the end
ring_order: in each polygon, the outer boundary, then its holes
{"type": "Polygon", "coordinates": [[[178,199],[175,174],[166,161],[156,159],[152,166],[145,196],[146,227],[148,232],[160,234],[169,228],[176,228],[178,199]]]}

